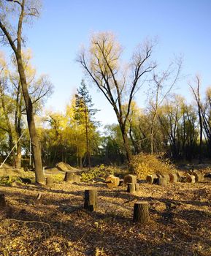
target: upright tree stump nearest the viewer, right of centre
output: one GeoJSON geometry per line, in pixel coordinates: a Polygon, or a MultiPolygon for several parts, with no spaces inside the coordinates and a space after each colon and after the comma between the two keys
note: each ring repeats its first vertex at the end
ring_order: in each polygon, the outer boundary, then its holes
{"type": "Polygon", "coordinates": [[[145,223],[149,219],[149,204],[146,201],[134,204],[133,222],[145,223]]]}

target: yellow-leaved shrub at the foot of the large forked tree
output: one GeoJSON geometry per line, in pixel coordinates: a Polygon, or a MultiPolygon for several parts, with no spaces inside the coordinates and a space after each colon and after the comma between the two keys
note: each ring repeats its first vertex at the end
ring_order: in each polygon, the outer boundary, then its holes
{"type": "Polygon", "coordinates": [[[131,160],[131,169],[138,178],[146,178],[153,173],[170,173],[174,169],[169,159],[164,158],[164,154],[145,154],[141,153],[134,156],[131,160]]]}

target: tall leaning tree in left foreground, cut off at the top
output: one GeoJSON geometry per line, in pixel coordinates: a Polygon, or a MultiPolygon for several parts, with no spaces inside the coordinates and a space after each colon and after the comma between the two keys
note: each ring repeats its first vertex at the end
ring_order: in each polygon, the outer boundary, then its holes
{"type": "Polygon", "coordinates": [[[15,53],[15,59],[18,65],[18,73],[26,105],[28,130],[31,137],[32,150],[34,155],[36,181],[39,184],[45,183],[45,177],[42,171],[41,148],[39,138],[34,122],[34,107],[28,93],[26,72],[23,64],[22,45],[25,42],[23,37],[23,24],[31,18],[39,16],[39,1],[31,0],[1,0],[0,1],[0,29],[1,42],[7,44],[15,53]],[[17,22],[12,20],[14,16],[17,22]]]}

